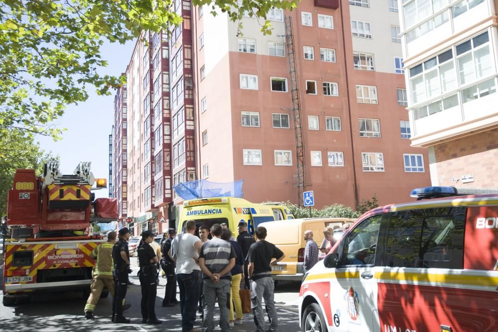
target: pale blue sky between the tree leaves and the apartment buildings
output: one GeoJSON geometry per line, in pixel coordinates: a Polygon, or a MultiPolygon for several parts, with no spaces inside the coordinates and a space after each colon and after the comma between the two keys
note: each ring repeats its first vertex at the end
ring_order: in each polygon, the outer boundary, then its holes
{"type": "MultiPolygon", "coordinates": [[[[101,68],[100,74],[119,76],[124,73],[134,45],[134,41],[124,45],[104,44],[101,54],[108,66],[101,68]]],[[[80,161],[90,161],[95,178],[108,178],[109,185],[109,135],[114,124],[115,92],[110,96],[98,96],[95,88],[89,89],[85,103],[68,105],[64,115],[55,121],[59,128],[67,129],[62,133],[62,139],[54,142],[51,138],[39,136],[38,141],[43,150],[60,156],[63,174],[72,174],[80,161]]],[[[107,197],[109,190],[95,193],[97,198],[107,197]]]]}

